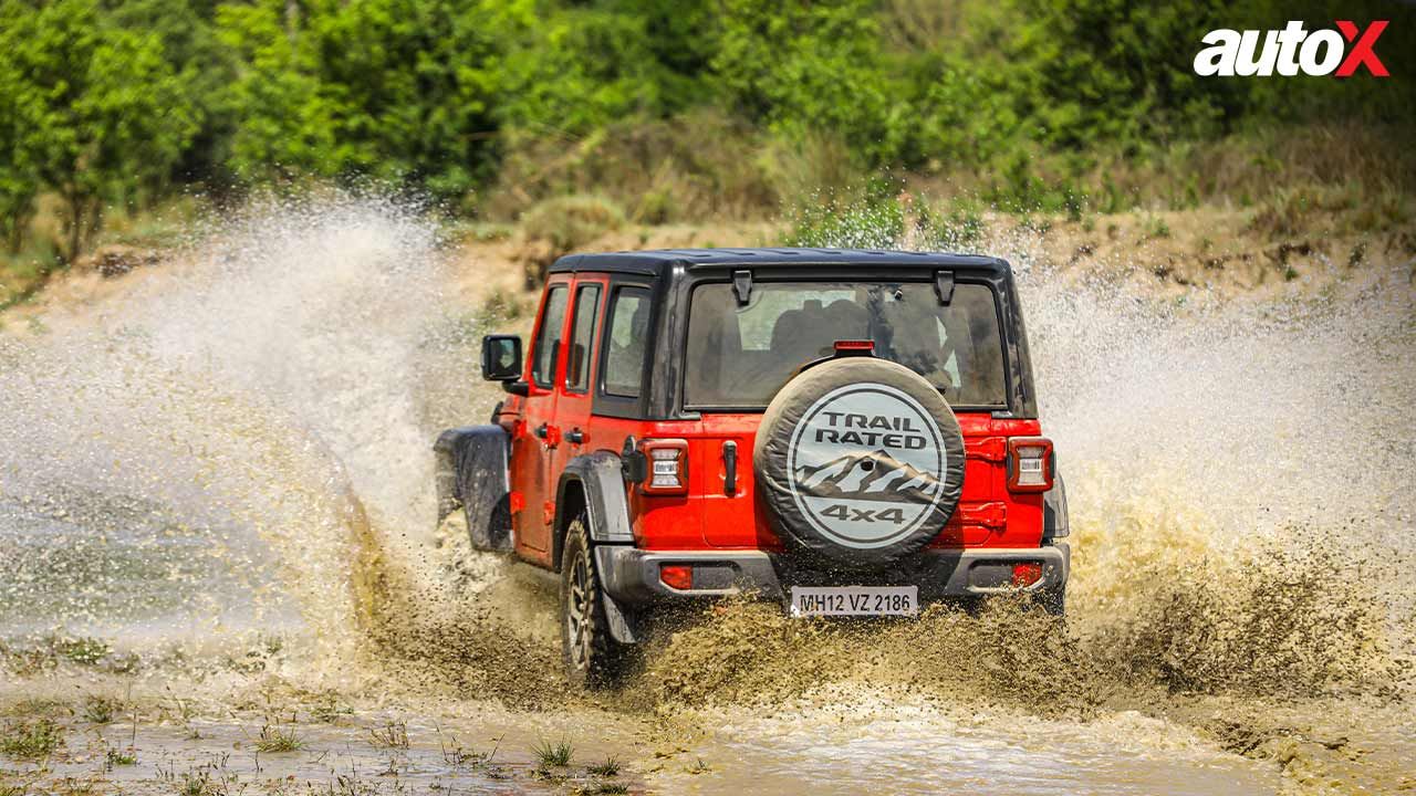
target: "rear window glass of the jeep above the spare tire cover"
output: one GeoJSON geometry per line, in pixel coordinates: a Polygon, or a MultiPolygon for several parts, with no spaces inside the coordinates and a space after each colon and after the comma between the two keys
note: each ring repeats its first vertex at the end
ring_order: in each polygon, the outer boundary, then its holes
{"type": "Polygon", "coordinates": [[[837,340],[874,340],[875,356],[933,384],[954,406],[1005,406],[1003,336],[987,285],[959,283],[949,306],[929,283],[753,283],[739,306],[731,285],[694,289],[684,404],[759,408],[837,340]]]}

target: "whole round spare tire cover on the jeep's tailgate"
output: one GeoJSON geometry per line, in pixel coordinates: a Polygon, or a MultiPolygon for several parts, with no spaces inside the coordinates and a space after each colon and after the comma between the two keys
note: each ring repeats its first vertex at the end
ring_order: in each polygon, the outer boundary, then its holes
{"type": "Polygon", "coordinates": [[[844,357],[789,381],[753,449],[758,490],[789,544],[837,564],[881,565],[929,542],[964,483],[964,440],[915,371],[844,357]]]}

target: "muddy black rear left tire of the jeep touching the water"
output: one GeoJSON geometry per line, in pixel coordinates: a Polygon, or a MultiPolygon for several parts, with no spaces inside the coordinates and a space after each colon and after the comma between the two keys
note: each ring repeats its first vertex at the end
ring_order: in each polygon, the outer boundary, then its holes
{"type": "Polygon", "coordinates": [[[561,663],[565,677],[581,688],[613,686],[623,673],[627,652],[610,636],[585,520],[572,520],[565,531],[561,558],[561,663]]]}

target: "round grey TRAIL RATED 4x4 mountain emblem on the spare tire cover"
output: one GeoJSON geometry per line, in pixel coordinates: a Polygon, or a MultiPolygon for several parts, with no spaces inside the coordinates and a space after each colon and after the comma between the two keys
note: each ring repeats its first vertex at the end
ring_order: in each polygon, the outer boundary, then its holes
{"type": "Polygon", "coordinates": [[[944,440],[915,398],[884,384],[833,390],[787,448],[790,491],[831,541],[857,550],[912,534],[943,494],[944,440]]]}

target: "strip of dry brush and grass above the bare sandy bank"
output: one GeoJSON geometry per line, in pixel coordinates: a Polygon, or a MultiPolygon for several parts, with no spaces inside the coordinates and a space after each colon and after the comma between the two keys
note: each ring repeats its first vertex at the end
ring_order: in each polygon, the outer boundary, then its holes
{"type": "Polygon", "coordinates": [[[1274,126],[1222,139],[1011,150],[980,161],[875,170],[844,142],[787,144],[712,113],[627,120],[510,150],[477,215],[514,222],[565,195],[595,195],[639,224],[762,220],[784,208],[848,205],[909,190],[981,212],[1117,214],[1199,207],[1342,212],[1362,231],[1416,217],[1416,153],[1400,130],[1274,126]],[[1349,212],[1351,211],[1351,212],[1349,212]]]}

